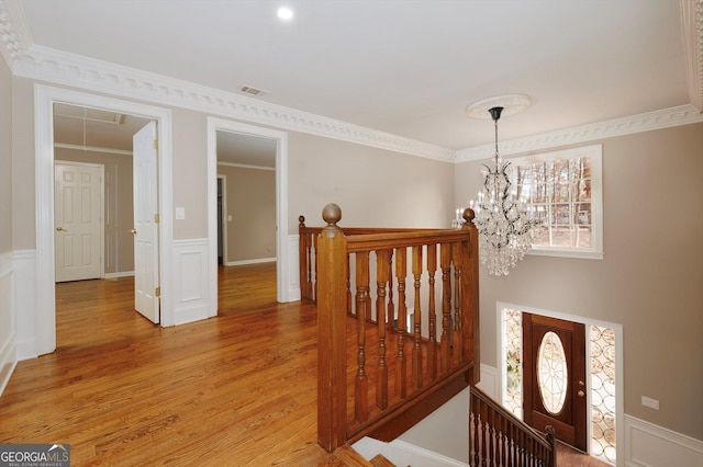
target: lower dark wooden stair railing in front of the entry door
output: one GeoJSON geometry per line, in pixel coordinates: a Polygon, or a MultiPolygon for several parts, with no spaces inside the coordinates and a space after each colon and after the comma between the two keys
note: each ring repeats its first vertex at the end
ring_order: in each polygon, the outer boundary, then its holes
{"type": "Polygon", "coordinates": [[[556,467],[554,428],[543,435],[476,386],[470,394],[469,466],[556,467]]]}

